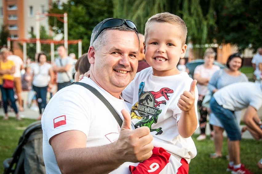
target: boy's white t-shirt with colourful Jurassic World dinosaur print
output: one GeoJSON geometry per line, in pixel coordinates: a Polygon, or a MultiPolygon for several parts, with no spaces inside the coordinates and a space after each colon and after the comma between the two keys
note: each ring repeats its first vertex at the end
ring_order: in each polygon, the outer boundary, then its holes
{"type": "MultiPolygon", "coordinates": [[[[188,162],[196,156],[196,146],[191,137],[183,138],[178,133],[177,122],[181,110],[177,102],[184,91],[189,91],[192,81],[186,72],[164,77],[154,76],[152,67],[149,67],[137,73],[134,80],[122,91],[122,97],[132,103],[133,125],[148,126],[155,147],[162,147],[188,162]]],[[[198,122],[197,88],[195,97],[198,122]]]]}

